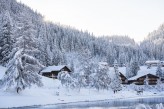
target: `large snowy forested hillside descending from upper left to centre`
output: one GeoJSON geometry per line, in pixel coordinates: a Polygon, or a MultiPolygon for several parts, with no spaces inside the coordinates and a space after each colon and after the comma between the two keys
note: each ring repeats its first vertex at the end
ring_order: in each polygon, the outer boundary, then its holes
{"type": "Polygon", "coordinates": [[[95,38],[88,32],[45,22],[40,14],[15,0],[1,0],[0,3],[0,60],[3,65],[12,59],[8,57],[9,53],[19,46],[15,42],[21,37],[24,37],[25,43],[27,40],[35,43],[39,52],[35,57],[45,66],[66,63],[67,53],[81,54],[82,50],[108,63],[113,63],[115,59],[126,63],[138,57],[138,46],[128,36],[95,38]]]}

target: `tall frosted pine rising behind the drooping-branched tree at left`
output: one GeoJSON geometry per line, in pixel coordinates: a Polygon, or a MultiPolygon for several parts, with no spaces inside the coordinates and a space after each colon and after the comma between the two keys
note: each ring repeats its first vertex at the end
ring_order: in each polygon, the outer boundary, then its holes
{"type": "Polygon", "coordinates": [[[30,18],[25,19],[26,14],[22,13],[19,18],[22,27],[17,30],[15,48],[23,48],[25,54],[37,57],[40,51],[38,50],[38,39],[35,36],[36,30],[30,18]]]}

